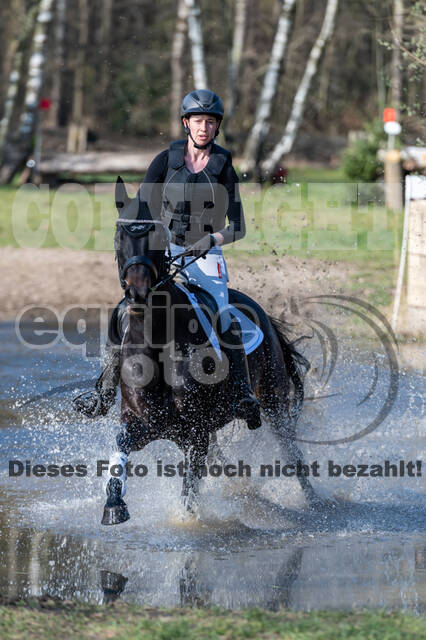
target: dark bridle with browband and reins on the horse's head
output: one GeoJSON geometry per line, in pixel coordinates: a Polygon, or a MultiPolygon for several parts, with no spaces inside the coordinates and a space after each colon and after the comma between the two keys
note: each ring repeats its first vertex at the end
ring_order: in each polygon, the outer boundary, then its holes
{"type": "MultiPolygon", "coordinates": [[[[148,258],[148,256],[143,256],[143,255],[132,256],[131,258],[126,260],[120,273],[120,283],[123,289],[125,289],[126,287],[127,271],[130,269],[130,267],[132,267],[135,264],[142,264],[145,267],[148,267],[148,269],[151,271],[153,281],[155,282],[155,285],[151,287],[151,291],[155,291],[156,289],[163,286],[167,282],[170,282],[171,280],[173,280],[178,273],[186,269],[186,267],[188,267],[190,264],[192,264],[193,262],[195,262],[196,260],[198,260],[204,255],[204,254],[201,254],[200,256],[194,257],[193,260],[190,260],[189,262],[184,263],[183,258],[185,256],[190,255],[192,251],[192,248],[188,247],[186,251],[183,251],[182,253],[179,253],[177,256],[172,258],[171,249],[170,249],[171,232],[168,226],[161,220],[118,218],[116,225],[117,226],[121,225],[121,228],[132,238],[142,238],[147,233],[149,233],[155,225],[159,225],[164,229],[165,236],[167,238],[167,246],[165,251],[168,253],[168,256],[164,257],[164,263],[165,263],[164,270],[160,271],[157,265],[155,264],[155,262],[151,260],[151,258],[148,258]],[[172,265],[179,259],[182,259],[181,266],[177,266],[174,269],[174,271],[170,273],[170,269],[172,268],[172,265]],[[159,280],[159,278],[161,278],[162,275],[163,275],[163,278],[159,280]]],[[[207,249],[205,253],[208,253],[208,251],[209,250],[207,249]]],[[[116,259],[117,259],[117,252],[116,252],[116,259]]]]}

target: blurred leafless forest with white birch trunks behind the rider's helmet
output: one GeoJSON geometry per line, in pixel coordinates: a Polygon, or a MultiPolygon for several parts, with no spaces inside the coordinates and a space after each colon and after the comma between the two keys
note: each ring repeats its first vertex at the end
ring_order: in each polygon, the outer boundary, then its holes
{"type": "Polygon", "coordinates": [[[28,157],[38,117],[46,149],[165,146],[181,137],[182,96],[203,87],[223,96],[220,142],[247,170],[290,151],[337,166],[350,132],[384,140],[386,106],[404,144],[425,144],[425,26],[417,0],[3,2],[0,179],[28,157]]]}

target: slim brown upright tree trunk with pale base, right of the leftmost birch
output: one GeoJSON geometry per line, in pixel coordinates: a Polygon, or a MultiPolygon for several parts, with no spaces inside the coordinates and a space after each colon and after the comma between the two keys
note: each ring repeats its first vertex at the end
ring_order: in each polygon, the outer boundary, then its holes
{"type": "Polygon", "coordinates": [[[82,153],[87,147],[87,127],[83,122],[84,70],[89,29],[89,7],[87,0],[79,0],[79,38],[74,68],[74,94],[71,122],[68,127],[67,151],[82,153]]]}

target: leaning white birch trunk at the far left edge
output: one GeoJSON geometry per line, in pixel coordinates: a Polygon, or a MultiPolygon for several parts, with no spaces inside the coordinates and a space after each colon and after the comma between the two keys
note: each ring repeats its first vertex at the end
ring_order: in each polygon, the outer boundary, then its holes
{"type": "MultiPolygon", "coordinates": [[[[25,97],[16,137],[6,140],[0,168],[0,184],[9,183],[15,173],[23,166],[32,149],[32,137],[36,129],[38,104],[43,82],[45,66],[45,43],[47,26],[52,18],[52,0],[40,0],[33,6],[28,29],[33,30],[31,57],[25,79],[25,97]],[[35,26],[34,26],[35,22],[35,26]]],[[[19,76],[16,80],[19,82],[19,76]]],[[[6,136],[13,104],[10,106],[9,121],[5,125],[6,136]]]]}

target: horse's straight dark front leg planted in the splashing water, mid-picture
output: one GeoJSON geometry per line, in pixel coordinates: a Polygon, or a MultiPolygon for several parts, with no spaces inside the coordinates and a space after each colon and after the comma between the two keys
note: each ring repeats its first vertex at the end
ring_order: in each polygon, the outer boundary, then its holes
{"type": "Polygon", "coordinates": [[[209,448],[209,434],[204,431],[193,433],[184,444],[185,472],[182,483],[182,504],[187,513],[197,515],[198,490],[205,468],[209,448]]]}

